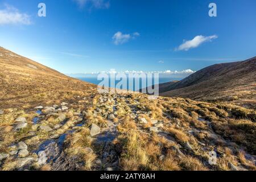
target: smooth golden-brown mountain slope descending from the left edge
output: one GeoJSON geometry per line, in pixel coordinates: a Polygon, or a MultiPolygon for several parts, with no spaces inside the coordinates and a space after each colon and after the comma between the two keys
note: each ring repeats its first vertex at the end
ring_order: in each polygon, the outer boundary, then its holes
{"type": "Polygon", "coordinates": [[[63,75],[0,47],[0,107],[31,107],[71,99],[96,85],[63,75]]]}

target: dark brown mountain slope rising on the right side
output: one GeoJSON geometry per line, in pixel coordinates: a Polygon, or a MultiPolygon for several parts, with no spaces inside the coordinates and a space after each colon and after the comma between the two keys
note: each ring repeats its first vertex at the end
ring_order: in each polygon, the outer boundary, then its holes
{"type": "Polygon", "coordinates": [[[204,101],[232,101],[255,107],[256,57],[215,64],[173,83],[160,84],[161,96],[186,97],[204,101]]]}

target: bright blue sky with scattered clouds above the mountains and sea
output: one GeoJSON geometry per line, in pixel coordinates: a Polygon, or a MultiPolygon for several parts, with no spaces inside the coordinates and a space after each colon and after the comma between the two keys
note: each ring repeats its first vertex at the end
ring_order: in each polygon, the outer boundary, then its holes
{"type": "Polygon", "coordinates": [[[255,0],[0,0],[0,46],[63,73],[197,71],[255,56],[255,19],[255,0]]]}

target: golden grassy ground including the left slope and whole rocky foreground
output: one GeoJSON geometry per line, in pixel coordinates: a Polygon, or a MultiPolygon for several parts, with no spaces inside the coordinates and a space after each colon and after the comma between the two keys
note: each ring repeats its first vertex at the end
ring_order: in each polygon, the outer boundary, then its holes
{"type": "Polygon", "coordinates": [[[6,49],[0,57],[0,170],[256,170],[255,110],[98,93],[6,49]]]}

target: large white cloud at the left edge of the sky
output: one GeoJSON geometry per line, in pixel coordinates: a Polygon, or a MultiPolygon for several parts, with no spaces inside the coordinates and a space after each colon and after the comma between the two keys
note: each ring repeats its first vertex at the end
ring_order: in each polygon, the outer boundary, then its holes
{"type": "Polygon", "coordinates": [[[5,9],[0,10],[1,24],[31,24],[30,16],[26,13],[20,13],[18,9],[10,5],[5,5],[5,9]]]}

